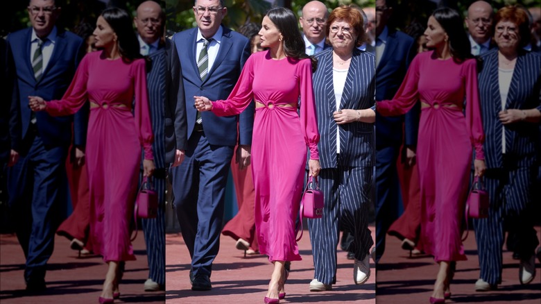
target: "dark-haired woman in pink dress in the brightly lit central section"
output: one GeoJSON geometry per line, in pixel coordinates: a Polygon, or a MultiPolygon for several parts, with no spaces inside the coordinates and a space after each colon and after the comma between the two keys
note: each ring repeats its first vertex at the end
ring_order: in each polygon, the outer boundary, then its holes
{"type": "Polygon", "coordinates": [[[318,124],[312,90],[312,60],[293,12],[272,8],[261,22],[261,47],[252,54],[225,101],[194,96],[196,108],[218,116],[237,115],[255,100],[252,175],[255,185],[255,225],[261,254],[274,271],[265,303],[284,298],[286,261],[301,260],[295,242],[307,146],[309,174],[320,171],[318,124]],[[300,115],[297,112],[300,96],[300,115]]]}

